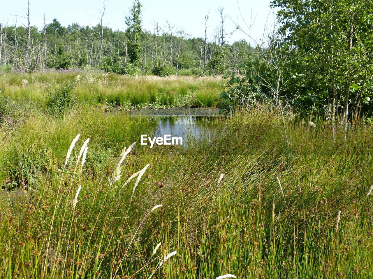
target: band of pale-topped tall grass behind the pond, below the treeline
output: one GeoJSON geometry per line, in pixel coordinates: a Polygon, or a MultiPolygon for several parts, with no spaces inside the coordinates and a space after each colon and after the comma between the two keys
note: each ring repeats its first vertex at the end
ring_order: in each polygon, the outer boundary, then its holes
{"type": "MultiPolygon", "coordinates": [[[[79,103],[98,104],[115,103],[125,105],[142,105],[157,102],[160,105],[173,105],[176,96],[183,96],[189,90],[196,92],[200,102],[198,106],[216,105],[214,98],[219,96],[220,86],[202,77],[156,77],[156,76],[121,76],[103,72],[58,73],[37,72],[32,74],[8,73],[0,87],[4,94],[12,99],[28,100],[43,105],[47,94],[53,87],[58,87],[68,80],[74,80],[79,74],[75,88],[79,103]]],[[[219,79],[215,78],[214,81],[219,79]]]]}

